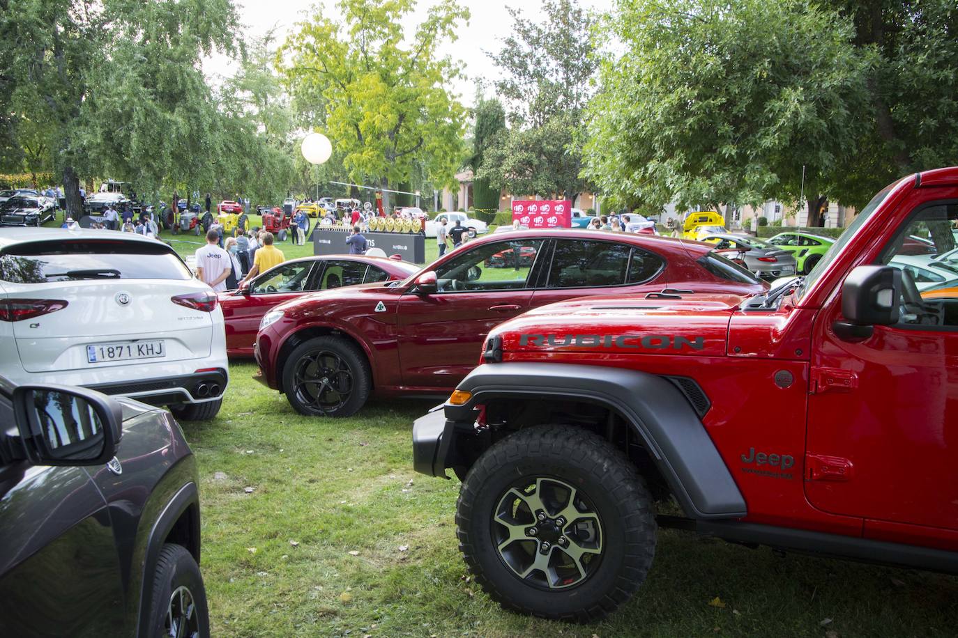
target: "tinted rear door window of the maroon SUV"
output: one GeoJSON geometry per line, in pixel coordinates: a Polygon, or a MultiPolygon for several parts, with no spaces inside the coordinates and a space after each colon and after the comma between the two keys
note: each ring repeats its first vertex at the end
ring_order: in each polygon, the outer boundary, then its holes
{"type": "Polygon", "coordinates": [[[625,244],[559,239],[546,287],[620,286],[626,283],[630,252],[625,244]]]}

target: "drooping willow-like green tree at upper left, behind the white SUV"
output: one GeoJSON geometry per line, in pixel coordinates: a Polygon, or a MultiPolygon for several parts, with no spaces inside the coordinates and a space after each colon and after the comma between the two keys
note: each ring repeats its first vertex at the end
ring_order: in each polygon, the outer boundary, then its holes
{"type": "Polygon", "coordinates": [[[45,131],[72,214],[80,175],[140,192],[212,181],[221,129],[200,58],[232,51],[230,0],[9,0],[4,15],[11,112],[45,131]]]}

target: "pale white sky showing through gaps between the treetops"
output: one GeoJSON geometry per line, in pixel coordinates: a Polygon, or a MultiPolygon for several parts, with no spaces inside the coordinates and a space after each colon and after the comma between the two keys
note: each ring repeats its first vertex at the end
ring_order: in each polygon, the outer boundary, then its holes
{"type": "MultiPolygon", "coordinates": [[[[598,11],[608,11],[613,4],[613,0],[579,2],[582,7],[598,11]]],[[[512,17],[506,11],[507,5],[520,9],[526,17],[535,18],[540,3],[538,0],[459,0],[459,3],[467,7],[471,14],[468,27],[461,26],[457,32],[459,39],[451,45],[446,44],[440,53],[451,55],[464,63],[467,77],[450,88],[459,94],[464,104],[471,105],[475,94],[475,78],[490,80],[496,77],[497,70],[486,52],[497,52],[502,38],[512,31],[512,17]]],[[[238,0],[237,4],[240,21],[248,35],[259,37],[273,29],[277,40],[282,42],[314,3],[311,0],[238,0]]],[[[334,0],[326,0],[320,4],[335,11],[334,0]]],[[[406,18],[409,21],[409,24],[405,25],[406,32],[412,32],[415,26],[422,22],[428,8],[435,4],[436,0],[420,0],[417,10],[406,18]]],[[[327,14],[331,12],[328,11],[327,14]]],[[[204,60],[203,70],[217,82],[217,76],[233,76],[236,66],[228,58],[217,55],[204,60]]]]}

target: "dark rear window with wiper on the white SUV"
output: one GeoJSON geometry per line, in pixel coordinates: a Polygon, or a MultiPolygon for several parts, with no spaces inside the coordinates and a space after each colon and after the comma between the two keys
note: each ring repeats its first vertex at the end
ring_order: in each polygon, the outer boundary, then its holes
{"type": "Polygon", "coordinates": [[[10,283],[192,277],[179,256],[159,242],[34,242],[0,254],[0,279],[10,283]]]}

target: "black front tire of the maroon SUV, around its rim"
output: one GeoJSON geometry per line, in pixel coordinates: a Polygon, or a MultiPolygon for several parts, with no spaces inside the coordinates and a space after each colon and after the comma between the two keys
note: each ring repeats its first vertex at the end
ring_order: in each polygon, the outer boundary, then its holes
{"type": "MultiPolygon", "coordinates": [[[[326,335],[315,337],[298,345],[286,358],[283,366],[283,392],[289,405],[306,416],[346,417],[355,414],[366,404],[372,390],[372,373],[365,353],[351,341],[342,337],[326,335]],[[331,353],[348,366],[351,377],[351,391],[346,401],[338,407],[319,407],[309,404],[297,389],[297,366],[304,364],[305,357],[319,352],[331,353]]],[[[318,389],[318,388],[317,388],[318,389]]]]}

